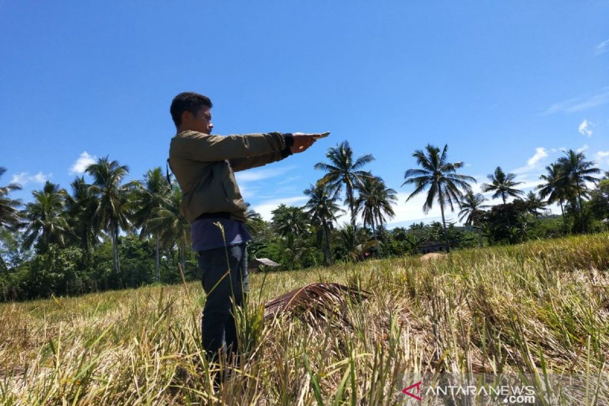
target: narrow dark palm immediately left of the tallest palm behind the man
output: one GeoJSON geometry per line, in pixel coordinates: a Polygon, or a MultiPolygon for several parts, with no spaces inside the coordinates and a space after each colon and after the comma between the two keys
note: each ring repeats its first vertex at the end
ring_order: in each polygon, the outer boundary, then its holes
{"type": "Polygon", "coordinates": [[[65,204],[68,224],[79,239],[80,248],[85,255],[96,245],[99,226],[94,221],[94,213],[99,202],[97,196],[85,183],[84,177],[76,177],[70,184],[72,194],[66,194],[65,204]]]}

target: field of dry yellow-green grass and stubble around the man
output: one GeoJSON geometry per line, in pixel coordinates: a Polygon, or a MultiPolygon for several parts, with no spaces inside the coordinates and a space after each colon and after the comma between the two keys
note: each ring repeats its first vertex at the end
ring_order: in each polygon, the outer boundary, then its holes
{"type": "MultiPolygon", "coordinates": [[[[213,393],[200,284],[0,305],[6,405],[402,404],[404,373],[576,374],[607,385],[609,234],[252,275],[246,355],[213,393]],[[337,320],[262,324],[259,304],[311,282],[370,292],[337,320]]],[[[211,368],[215,368],[212,366],[211,368]]],[[[554,388],[557,390],[557,388],[554,388]]],[[[609,404],[596,383],[577,404],[609,404]]],[[[558,396],[560,399],[560,396],[558,396]]],[[[557,403],[574,404],[568,397],[557,403]]],[[[449,403],[447,403],[449,404],[449,403]]]]}

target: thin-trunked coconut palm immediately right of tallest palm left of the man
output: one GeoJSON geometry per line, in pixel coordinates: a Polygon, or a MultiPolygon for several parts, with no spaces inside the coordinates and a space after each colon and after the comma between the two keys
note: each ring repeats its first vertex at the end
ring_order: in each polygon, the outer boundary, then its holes
{"type": "Polygon", "coordinates": [[[133,226],[140,228],[139,237],[143,238],[149,234],[154,235],[155,280],[158,282],[161,280],[159,231],[157,230],[152,233],[148,226],[148,221],[153,218],[153,211],[164,205],[170,191],[169,182],[167,177],[163,175],[163,170],[160,167],[155,167],[146,172],[143,183],[136,182],[134,186],[130,201],[126,207],[132,209],[133,226]]]}

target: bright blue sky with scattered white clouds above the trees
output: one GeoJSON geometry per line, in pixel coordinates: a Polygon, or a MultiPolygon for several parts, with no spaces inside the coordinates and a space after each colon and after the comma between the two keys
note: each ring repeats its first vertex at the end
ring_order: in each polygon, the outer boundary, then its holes
{"type": "Polygon", "coordinates": [[[400,187],[428,143],[479,183],[499,165],[533,187],[561,148],[609,169],[607,1],[85,3],[0,1],[0,184],[24,201],[100,156],[164,168],[181,91],[220,135],[332,131],[239,174],[267,218],[345,139],[399,192],[390,227],[439,215],[400,187]]]}

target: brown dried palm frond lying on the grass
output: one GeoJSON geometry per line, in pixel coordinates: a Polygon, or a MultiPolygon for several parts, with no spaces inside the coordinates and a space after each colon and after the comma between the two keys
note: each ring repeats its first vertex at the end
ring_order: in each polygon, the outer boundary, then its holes
{"type": "Polygon", "coordinates": [[[264,320],[280,315],[294,316],[309,323],[320,320],[351,323],[345,316],[348,301],[359,303],[370,292],[336,283],[317,283],[294,289],[264,304],[264,320]]]}

